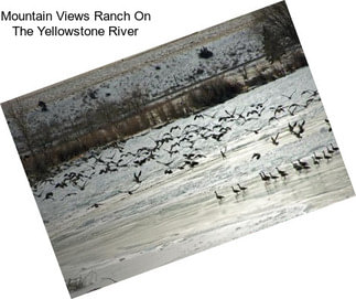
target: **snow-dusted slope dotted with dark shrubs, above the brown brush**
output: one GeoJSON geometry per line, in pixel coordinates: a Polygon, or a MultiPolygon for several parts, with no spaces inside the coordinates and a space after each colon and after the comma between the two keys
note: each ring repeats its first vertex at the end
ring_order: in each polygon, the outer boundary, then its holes
{"type": "MultiPolygon", "coordinates": [[[[121,104],[132,92],[140,90],[151,102],[196,82],[237,67],[263,55],[261,25],[253,23],[253,13],[196,32],[139,55],[103,66],[80,76],[20,97],[25,106],[25,121],[33,136],[43,126],[55,127],[58,138],[73,134],[74,125],[86,127],[86,117],[100,103],[121,104]],[[201,58],[205,46],[214,53],[201,58]],[[43,113],[39,102],[46,103],[43,113]]],[[[7,103],[3,104],[7,111],[7,103]]],[[[20,153],[26,146],[11,115],[11,134],[20,153]]]]}

